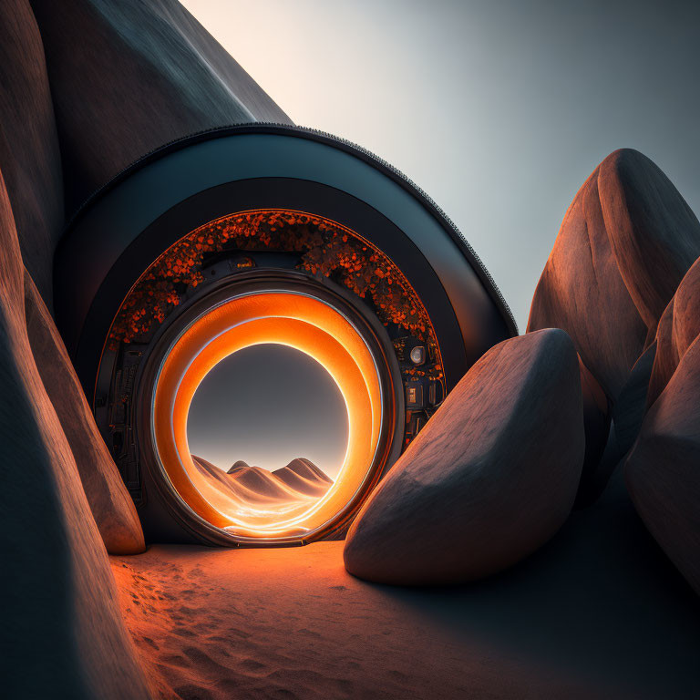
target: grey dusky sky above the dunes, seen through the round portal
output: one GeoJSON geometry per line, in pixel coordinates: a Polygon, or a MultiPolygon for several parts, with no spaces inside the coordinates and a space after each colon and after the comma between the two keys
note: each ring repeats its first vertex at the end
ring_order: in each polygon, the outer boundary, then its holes
{"type": "Polygon", "coordinates": [[[224,471],[239,459],[274,471],[304,457],[335,479],[347,448],[345,400],[309,355],[286,345],[252,345],[204,377],[187,437],[193,455],[224,471]]]}

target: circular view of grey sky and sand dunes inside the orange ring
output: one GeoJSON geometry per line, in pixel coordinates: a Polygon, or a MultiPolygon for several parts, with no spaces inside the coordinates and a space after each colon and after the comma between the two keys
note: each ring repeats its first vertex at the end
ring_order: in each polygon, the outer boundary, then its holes
{"type": "Polygon", "coordinates": [[[295,348],[252,345],[201,380],[187,419],[190,453],[239,517],[311,508],[345,462],[345,399],[323,365],[295,348]]]}

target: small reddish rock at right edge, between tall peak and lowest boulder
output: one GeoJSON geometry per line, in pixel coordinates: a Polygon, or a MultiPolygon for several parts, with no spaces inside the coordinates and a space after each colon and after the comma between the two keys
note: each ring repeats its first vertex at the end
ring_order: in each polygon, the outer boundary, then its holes
{"type": "Polygon", "coordinates": [[[700,335],[700,259],[696,260],[678,286],[659,321],[656,358],[649,382],[647,405],[658,398],[675,372],[685,351],[700,335]]]}

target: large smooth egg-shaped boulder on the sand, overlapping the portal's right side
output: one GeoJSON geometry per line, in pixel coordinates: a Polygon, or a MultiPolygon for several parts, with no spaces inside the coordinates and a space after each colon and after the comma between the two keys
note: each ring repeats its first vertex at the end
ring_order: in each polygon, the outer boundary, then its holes
{"type": "Polygon", "coordinates": [[[360,510],[347,571],[466,582],[520,561],[571,510],[584,451],[579,365],[561,330],[492,347],[360,510]]]}

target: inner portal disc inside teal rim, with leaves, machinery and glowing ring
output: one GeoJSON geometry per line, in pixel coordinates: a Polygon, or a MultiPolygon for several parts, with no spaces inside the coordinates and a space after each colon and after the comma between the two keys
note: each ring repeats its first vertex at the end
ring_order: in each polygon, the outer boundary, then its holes
{"type": "MultiPolygon", "coordinates": [[[[159,235],[170,240],[174,233],[167,228],[159,235]]],[[[274,370],[274,362],[265,364],[274,370]]],[[[275,381],[299,374],[290,368],[275,381]]],[[[184,530],[194,540],[227,546],[303,544],[343,536],[367,494],[436,410],[445,386],[427,310],[376,242],[307,211],[250,209],[186,232],[141,273],[103,346],[94,409],[154,537],[171,532],[167,537],[177,539],[184,530]],[[294,426],[304,416],[298,398],[309,398],[304,387],[283,392],[293,400],[264,399],[268,409],[283,407],[283,419],[268,415],[251,426],[235,417],[226,425],[243,406],[246,415],[260,411],[255,401],[262,400],[260,382],[272,380],[267,375],[259,375],[242,400],[242,387],[232,389],[234,400],[224,401],[213,418],[207,411],[198,417],[219,372],[229,362],[242,365],[253,356],[248,353],[266,352],[265,345],[272,352],[272,346],[297,351],[302,361],[313,358],[332,377],[345,421],[329,426],[336,411],[324,401],[316,432],[336,449],[345,447],[340,468],[339,450],[335,456],[312,453],[320,443],[301,439],[308,421],[294,426]],[[221,428],[217,419],[224,422],[221,430],[214,429],[221,428]],[[341,423],[345,433],[338,437],[334,426],[341,423]],[[268,424],[267,434],[256,434],[268,424]],[[221,443],[227,435],[228,446],[225,438],[221,443]],[[254,449],[246,444],[252,438],[254,449]],[[270,448],[276,454],[267,454],[270,448]],[[309,460],[333,482],[293,517],[252,508],[250,499],[242,508],[241,499],[219,488],[221,478],[230,485],[228,472],[237,462],[243,463],[239,471],[260,468],[266,476],[293,458],[309,460]]]]}

